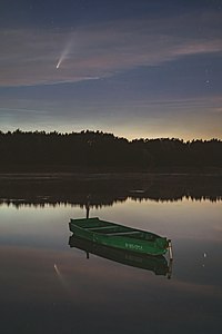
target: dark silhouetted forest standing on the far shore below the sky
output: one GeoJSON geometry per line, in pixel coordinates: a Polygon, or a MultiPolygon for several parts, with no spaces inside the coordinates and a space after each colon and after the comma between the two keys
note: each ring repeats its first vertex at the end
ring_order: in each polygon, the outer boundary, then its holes
{"type": "Polygon", "coordinates": [[[102,131],[0,131],[0,170],[157,170],[221,168],[222,141],[128,140],[102,131]]]}

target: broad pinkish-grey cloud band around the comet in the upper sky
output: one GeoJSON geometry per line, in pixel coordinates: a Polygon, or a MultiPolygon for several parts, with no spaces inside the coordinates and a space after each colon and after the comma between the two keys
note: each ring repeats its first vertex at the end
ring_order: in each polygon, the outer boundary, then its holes
{"type": "Polygon", "coordinates": [[[2,29],[0,86],[98,80],[140,66],[222,52],[219,19],[220,14],[209,13],[159,20],[117,20],[79,27],[72,32],[65,29],[2,29]],[[57,69],[61,55],[65,57],[57,69]]]}

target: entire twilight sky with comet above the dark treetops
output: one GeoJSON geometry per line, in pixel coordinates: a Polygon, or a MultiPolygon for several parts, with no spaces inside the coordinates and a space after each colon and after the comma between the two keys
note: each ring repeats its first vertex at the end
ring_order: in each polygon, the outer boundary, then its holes
{"type": "Polygon", "coordinates": [[[222,139],[222,0],[0,0],[0,130],[222,139]]]}

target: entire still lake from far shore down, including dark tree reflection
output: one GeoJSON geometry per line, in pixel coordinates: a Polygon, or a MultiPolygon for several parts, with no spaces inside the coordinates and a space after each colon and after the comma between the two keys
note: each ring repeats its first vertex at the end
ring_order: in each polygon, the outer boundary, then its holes
{"type": "Polygon", "coordinates": [[[1,333],[220,333],[221,176],[0,177],[1,333]],[[172,239],[173,262],[70,245],[90,217],[172,239]]]}

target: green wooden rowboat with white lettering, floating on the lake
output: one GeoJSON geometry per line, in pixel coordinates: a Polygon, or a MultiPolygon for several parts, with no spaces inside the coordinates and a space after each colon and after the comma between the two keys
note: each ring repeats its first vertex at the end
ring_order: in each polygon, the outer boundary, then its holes
{"type": "Polygon", "coordinates": [[[70,219],[69,227],[80,238],[140,254],[163,255],[170,243],[157,234],[100,220],[98,217],[70,219]]]}

